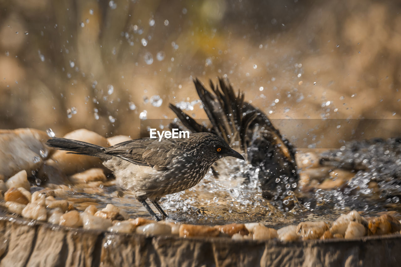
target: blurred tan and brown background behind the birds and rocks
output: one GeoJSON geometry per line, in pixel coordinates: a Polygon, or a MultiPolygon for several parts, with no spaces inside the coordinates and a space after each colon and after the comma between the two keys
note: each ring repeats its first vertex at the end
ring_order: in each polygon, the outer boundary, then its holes
{"type": "Polygon", "coordinates": [[[0,128],[138,138],[225,77],[299,148],[400,136],[396,0],[0,0],[0,128]]]}

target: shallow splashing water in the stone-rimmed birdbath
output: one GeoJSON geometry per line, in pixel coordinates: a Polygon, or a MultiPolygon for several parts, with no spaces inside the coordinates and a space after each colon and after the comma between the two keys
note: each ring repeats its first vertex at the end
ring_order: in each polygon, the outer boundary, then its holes
{"type": "MultiPolygon", "coordinates": [[[[160,205],[170,218],[204,225],[263,222],[278,228],[304,220],[332,221],[352,209],[362,212],[364,216],[375,216],[378,212],[399,211],[400,208],[398,204],[388,205],[385,199],[377,195],[369,196],[340,188],[316,190],[308,194],[295,192],[302,198],[303,204],[296,201],[291,210],[286,210],[262,198],[257,168],[231,158],[223,158],[215,167],[218,176],[209,171],[201,183],[193,188],[160,200],[160,205]]],[[[79,210],[84,210],[90,204],[103,208],[112,203],[124,208],[131,217],[150,218],[134,195],[130,191],[123,191],[114,181],[101,184],[100,187],[93,193],[79,187],[71,188],[67,200],[79,210]]]]}

